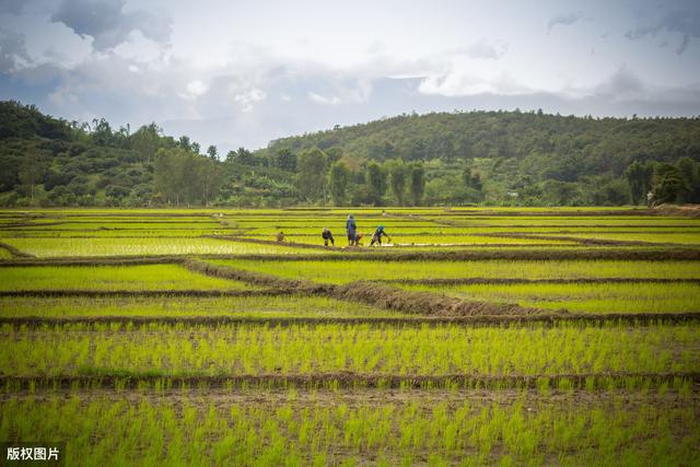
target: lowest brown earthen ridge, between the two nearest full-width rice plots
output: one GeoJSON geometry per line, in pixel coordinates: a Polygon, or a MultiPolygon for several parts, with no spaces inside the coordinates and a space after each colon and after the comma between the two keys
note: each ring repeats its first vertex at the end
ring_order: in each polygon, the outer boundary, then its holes
{"type": "Polygon", "coordinates": [[[654,385],[675,384],[676,382],[700,383],[700,372],[669,373],[573,373],[539,375],[393,375],[393,374],[355,374],[314,373],[314,374],[255,374],[225,376],[171,376],[167,374],[128,374],[103,373],[95,375],[58,375],[58,376],[0,376],[0,386],[5,390],[31,388],[238,388],[238,387],[364,387],[364,388],[538,388],[542,384],[557,387],[568,382],[572,388],[607,388],[612,383],[616,387],[634,384],[641,387],[648,382],[654,385]]]}

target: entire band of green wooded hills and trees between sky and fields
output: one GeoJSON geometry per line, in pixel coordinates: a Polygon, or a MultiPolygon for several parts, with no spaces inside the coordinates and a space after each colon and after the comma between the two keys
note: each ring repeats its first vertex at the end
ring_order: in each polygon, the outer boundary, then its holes
{"type": "Polygon", "coordinates": [[[219,154],[0,102],[0,167],[1,206],[700,202],[700,118],[402,115],[219,154]]]}

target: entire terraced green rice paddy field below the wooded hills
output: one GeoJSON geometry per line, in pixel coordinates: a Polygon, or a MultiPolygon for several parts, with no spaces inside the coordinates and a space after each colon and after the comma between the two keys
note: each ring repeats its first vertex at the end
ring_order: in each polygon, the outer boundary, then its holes
{"type": "Polygon", "coordinates": [[[0,336],[66,465],[700,464],[692,215],[5,210],[0,336]]]}

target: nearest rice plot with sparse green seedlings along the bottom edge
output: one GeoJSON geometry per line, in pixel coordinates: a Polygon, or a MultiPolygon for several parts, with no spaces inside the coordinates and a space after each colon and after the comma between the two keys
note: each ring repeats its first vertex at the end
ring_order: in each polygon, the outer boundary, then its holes
{"type": "MultiPolygon", "coordinates": [[[[688,397],[418,392],[150,398],[32,396],[0,404],[0,439],[67,440],[81,465],[692,465],[688,397]]],[[[72,464],[72,463],[71,463],[72,464]]]]}

